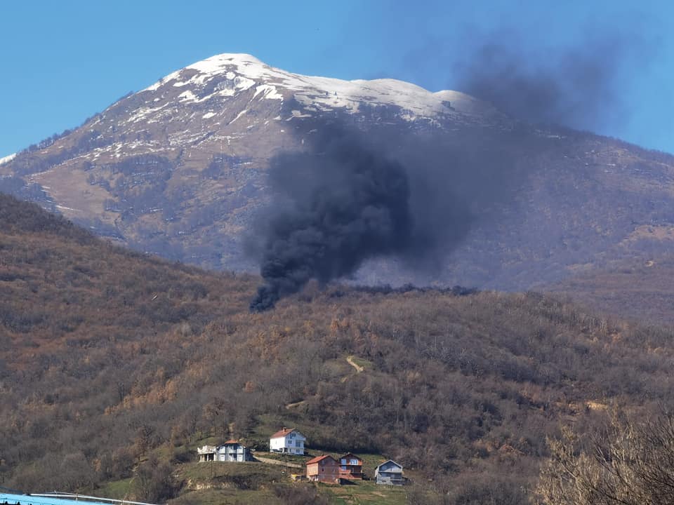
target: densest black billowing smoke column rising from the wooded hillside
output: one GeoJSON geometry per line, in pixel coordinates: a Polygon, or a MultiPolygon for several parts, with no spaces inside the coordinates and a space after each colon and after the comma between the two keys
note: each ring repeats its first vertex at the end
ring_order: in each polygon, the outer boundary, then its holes
{"type": "Polygon", "coordinates": [[[403,253],[413,240],[404,167],[357,135],[323,128],[308,152],[276,156],[275,190],[251,311],[274,307],[310,279],[348,276],[371,257],[403,253]]]}

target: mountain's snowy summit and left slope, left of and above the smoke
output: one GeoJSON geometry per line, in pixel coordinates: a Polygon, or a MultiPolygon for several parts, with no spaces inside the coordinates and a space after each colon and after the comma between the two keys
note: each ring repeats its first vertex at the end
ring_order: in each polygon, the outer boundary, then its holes
{"type": "Polygon", "coordinates": [[[39,152],[18,154],[0,166],[0,177],[22,175],[27,197],[73,219],[86,215],[89,226],[116,238],[144,241],[144,230],[164,230],[154,237],[165,233],[176,259],[212,267],[203,250],[182,245],[206,223],[199,243],[213,238],[223,264],[250,266],[239,245],[267,198],[270,159],[303,149],[331,121],[423,136],[507,130],[512,120],[455,91],[305,76],[226,53],[127,95],[39,152]]]}

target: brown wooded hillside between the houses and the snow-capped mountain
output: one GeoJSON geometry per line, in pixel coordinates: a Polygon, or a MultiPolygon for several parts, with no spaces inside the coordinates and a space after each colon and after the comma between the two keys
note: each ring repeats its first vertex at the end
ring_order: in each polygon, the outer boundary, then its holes
{"type": "Polygon", "coordinates": [[[285,425],[317,453],[395,459],[448,503],[517,503],[560,422],[583,429],[616,399],[650,408],[674,386],[670,330],[535,293],[310,286],[249,314],[253,276],[129,253],[5,196],[0,221],[13,487],[91,490],[157,450],[178,464],[209,436],[264,449],[285,425]]]}

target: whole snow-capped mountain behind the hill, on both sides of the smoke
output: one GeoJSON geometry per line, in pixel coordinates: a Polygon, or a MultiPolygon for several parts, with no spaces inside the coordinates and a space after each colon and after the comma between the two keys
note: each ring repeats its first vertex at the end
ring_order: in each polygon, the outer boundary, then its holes
{"type": "Polygon", "coordinates": [[[402,163],[415,222],[446,235],[421,268],[373,258],[362,282],[522,290],[647,260],[674,237],[673,156],[533,126],[455,91],[302,76],[239,54],[173,72],[6,159],[0,190],[137,250],[255,270],[247,244],[275,194],[270,163],[315,148],[330,123],[402,163]]]}

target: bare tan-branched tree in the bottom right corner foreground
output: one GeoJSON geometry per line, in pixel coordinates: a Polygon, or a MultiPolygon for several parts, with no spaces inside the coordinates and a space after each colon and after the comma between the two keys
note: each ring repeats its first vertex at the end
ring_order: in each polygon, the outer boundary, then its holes
{"type": "Polygon", "coordinates": [[[674,503],[674,415],[635,422],[616,412],[589,443],[564,429],[548,440],[536,494],[545,505],[674,503]],[[581,447],[582,445],[582,447],[581,447]]]}

